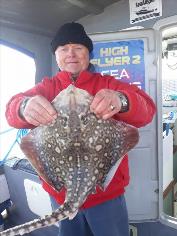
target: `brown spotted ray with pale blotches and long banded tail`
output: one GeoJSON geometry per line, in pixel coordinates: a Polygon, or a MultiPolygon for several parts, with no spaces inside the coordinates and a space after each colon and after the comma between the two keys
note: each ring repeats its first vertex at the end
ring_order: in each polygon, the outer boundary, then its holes
{"type": "Polygon", "coordinates": [[[138,143],[138,128],[113,118],[98,118],[90,110],[93,99],[86,90],[69,85],[52,101],[57,119],[22,138],[20,147],[38,175],[58,192],[65,188],[66,197],[51,214],[0,232],[0,236],[24,235],[73,219],[97,187],[105,191],[125,154],[138,143]]]}

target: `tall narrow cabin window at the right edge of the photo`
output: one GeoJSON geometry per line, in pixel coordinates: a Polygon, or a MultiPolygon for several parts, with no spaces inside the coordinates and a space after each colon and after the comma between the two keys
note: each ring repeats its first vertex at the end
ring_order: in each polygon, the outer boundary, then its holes
{"type": "Polygon", "coordinates": [[[163,211],[177,217],[177,26],[162,31],[163,211]]]}

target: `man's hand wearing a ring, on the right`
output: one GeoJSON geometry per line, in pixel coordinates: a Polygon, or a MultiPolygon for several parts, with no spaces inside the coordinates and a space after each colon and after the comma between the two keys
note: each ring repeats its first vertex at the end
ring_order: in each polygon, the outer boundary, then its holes
{"type": "Polygon", "coordinates": [[[101,89],[94,97],[90,110],[98,118],[108,119],[119,112],[121,101],[116,91],[111,89],[101,89]]]}

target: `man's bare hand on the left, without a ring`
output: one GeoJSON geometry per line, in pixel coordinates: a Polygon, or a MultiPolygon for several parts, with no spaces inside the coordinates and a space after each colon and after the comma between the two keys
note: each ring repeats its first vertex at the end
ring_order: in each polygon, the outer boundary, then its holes
{"type": "Polygon", "coordinates": [[[43,96],[29,97],[21,111],[21,116],[34,126],[47,125],[57,118],[57,111],[52,104],[43,96]]]}

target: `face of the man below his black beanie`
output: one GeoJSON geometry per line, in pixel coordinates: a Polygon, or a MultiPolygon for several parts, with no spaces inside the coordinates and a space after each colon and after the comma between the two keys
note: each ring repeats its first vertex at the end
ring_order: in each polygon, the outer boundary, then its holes
{"type": "Polygon", "coordinates": [[[56,61],[61,71],[78,75],[89,65],[89,51],[81,44],[66,44],[55,51],[56,61]]]}

